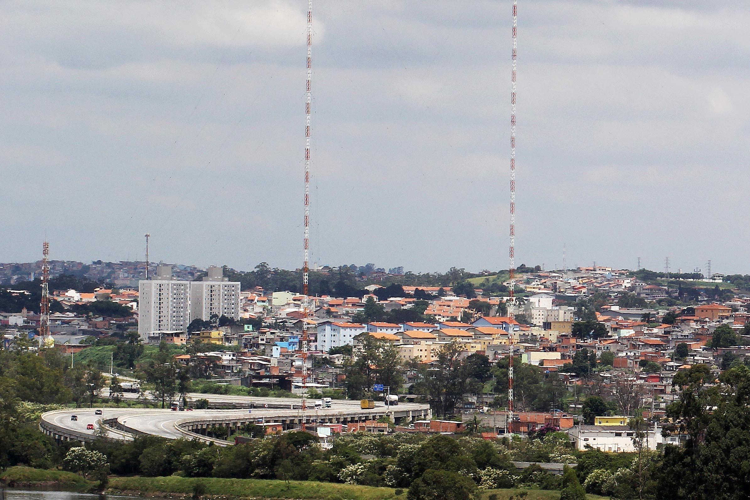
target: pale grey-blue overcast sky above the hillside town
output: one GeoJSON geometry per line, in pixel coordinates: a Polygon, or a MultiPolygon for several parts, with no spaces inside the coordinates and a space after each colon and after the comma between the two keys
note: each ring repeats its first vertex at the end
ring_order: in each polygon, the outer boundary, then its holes
{"type": "MultiPolygon", "coordinates": [[[[312,261],[508,267],[511,2],[316,0],[312,261]]],[[[305,0],[0,3],[0,262],[302,261],[305,0]]],[[[521,0],[516,262],[750,273],[746,0],[521,0]]]]}

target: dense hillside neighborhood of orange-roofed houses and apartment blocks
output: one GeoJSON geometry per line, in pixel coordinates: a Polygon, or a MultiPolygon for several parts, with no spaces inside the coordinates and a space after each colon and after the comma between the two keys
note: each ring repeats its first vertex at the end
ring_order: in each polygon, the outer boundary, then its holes
{"type": "MultiPolygon", "coordinates": [[[[585,444],[604,451],[632,450],[631,433],[623,426],[639,409],[646,409],[643,417],[653,422],[649,439],[681,439],[661,429],[664,410],[679,396],[675,377],[697,364],[718,373],[750,349],[745,345],[750,344],[745,327],[750,295],[719,288],[727,285],[721,277],[703,280],[703,289],[696,290],[690,280],[675,287],[673,281],[641,280],[637,272],[604,267],[529,268],[514,280],[514,298],[489,291],[511,285],[499,275],[473,278],[479,286],[469,287],[466,280],[454,286],[402,286],[400,276],[391,275],[391,283],[386,285],[386,278],[383,284],[364,286],[361,296],[306,298],[260,286],[242,289],[221,268],[209,268],[193,281],[172,270],[157,266],[137,288],[53,290],[58,307],[50,314],[51,336],[45,342],[74,356],[137,326],[142,344],[182,348],[175,361],[199,365],[214,382],[335,397],[368,390],[347,383],[346,366],[374,342],[389,346],[398,358],[393,370],[403,385],[390,390],[418,401],[429,401],[419,391],[419,370],[435,369],[451,350],[457,362],[481,360],[493,377],[479,377],[471,390],[454,394],[452,415],[437,411],[436,416],[458,415],[452,425],[460,428],[463,420],[479,415],[487,436],[556,427],[567,431],[578,448],[585,444]],[[689,302],[688,289],[694,298],[689,302]],[[116,316],[90,308],[105,303],[117,304],[116,316]],[[305,331],[309,357],[300,350],[305,331]],[[541,402],[524,400],[520,379],[517,414],[508,424],[503,411],[507,382],[497,375],[511,354],[551,380],[558,394],[541,402]],[[305,364],[309,376],[303,384],[305,364]],[[601,415],[584,415],[583,400],[592,395],[610,402],[598,409],[601,415]]],[[[371,274],[380,279],[383,273],[371,274]]],[[[6,293],[30,292],[11,286],[6,293]]],[[[2,311],[4,346],[20,336],[34,337],[38,322],[38,311],[2,311]]],[[[523,377],[525,372],[517,370],[523,377]]]]}

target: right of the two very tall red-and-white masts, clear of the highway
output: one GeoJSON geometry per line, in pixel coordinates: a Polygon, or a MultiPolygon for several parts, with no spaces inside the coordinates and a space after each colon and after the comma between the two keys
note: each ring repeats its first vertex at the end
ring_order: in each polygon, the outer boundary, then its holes
{"type": "MultiPolygon", "coordinates": [[[[508,272],[510,273],[510,307],[511,318],[513,317],[512,308],[514,304],[515,289],[515,97],[516,97],[516,56],[517,56],[517,31],[518,22],[518,1],[513,0],[513,49],[511,52],[511,204],[510,204],[510,258],[508,272]]],[[[513,325],[510,325],[508,332],[508,344],[510,345],[510,361],[508,362],[508,422],[505,430],[508,431],[513,425],[513,325]]]]}

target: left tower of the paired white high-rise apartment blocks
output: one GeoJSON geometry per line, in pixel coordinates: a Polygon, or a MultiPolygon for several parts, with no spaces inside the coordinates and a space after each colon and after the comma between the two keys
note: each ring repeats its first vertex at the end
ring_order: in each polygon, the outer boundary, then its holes
{"type": "Polygon", "coordinates": [[[157,267],[153,280],[138,283],[138,333],[185,330],[190,323],[190,282],[172,280],[172,268],[157,267]]]}

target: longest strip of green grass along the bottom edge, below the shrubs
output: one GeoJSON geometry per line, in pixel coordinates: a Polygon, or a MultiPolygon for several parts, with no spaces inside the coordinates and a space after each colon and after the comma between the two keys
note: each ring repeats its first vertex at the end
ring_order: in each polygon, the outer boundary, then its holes
{"type": "Polygon", "coordinates": [[[193,493],[193,484],[205,484],[206,495],[263,499],[389,500],[396,496],[392,488],[374,488],[354,484],[316,483],[314,481],[270,481],[263,479],[223,478],[111,478],[109,493],[193,493]]]}

